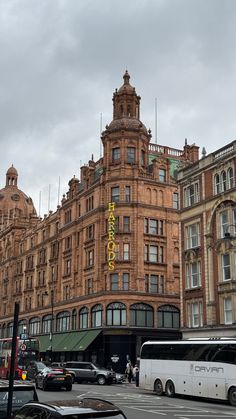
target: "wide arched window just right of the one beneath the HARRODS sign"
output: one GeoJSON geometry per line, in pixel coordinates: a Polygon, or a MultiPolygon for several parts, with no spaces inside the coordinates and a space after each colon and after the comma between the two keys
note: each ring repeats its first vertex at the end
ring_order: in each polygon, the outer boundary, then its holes
{"type": "Polygon", "coordinates": [[[148,304],[133,304],[130,306],[130,326],[153,327],[153,308],[148,304]]]}

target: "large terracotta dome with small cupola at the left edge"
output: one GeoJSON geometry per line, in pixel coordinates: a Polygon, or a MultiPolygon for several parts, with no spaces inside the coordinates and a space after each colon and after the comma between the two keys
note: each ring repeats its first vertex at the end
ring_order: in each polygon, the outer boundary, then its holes
{"type": "Polygon", "coordinates": [[[30,220],[37,217],[33,201],[18,186],[18,173],[12,165],[6,173],[6,186],[0,189],[0,226],[8,226],[14,219],[30,220]]]}

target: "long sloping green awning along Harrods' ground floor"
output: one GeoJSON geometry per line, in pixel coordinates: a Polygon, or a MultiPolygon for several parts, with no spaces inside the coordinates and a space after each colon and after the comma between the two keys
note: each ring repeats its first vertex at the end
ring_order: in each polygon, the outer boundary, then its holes
{"type": "Polygon", "coordinates": [[[54,333],[52,341],[49,335],[39,336],[40,352],[51,349],[53,352],[85,351],[101,330],[82,330],[80,332],[54,333]]]}

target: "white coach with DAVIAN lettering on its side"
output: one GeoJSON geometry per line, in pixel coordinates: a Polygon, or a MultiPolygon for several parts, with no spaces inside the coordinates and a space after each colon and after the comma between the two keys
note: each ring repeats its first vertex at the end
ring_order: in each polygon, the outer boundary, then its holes
{"type": "Polygon", "coordinates": [[[236,340],[145,342],[139,386],[158,396],[209,397],[236,406],[236,340]]]}

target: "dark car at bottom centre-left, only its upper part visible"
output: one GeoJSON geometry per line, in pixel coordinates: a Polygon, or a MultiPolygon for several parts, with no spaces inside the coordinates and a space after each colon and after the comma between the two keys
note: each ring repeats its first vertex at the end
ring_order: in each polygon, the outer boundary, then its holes
{"type": "Polygon", "coordinates": [[[84,398],[47,403],[27,403],[14,419],[79,419],[106,418],[126,419],[125,414],[113,403],[100,399],[84,398]]]}

